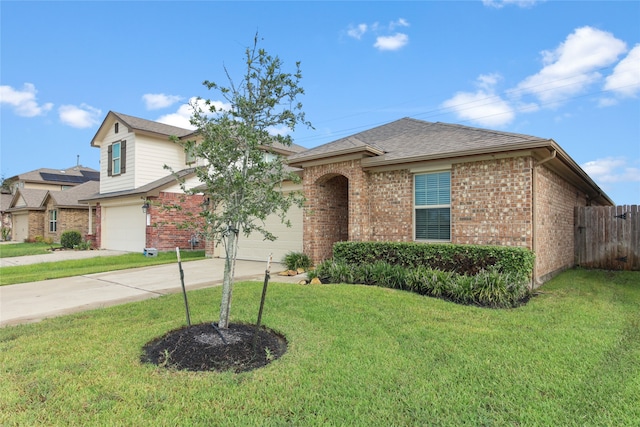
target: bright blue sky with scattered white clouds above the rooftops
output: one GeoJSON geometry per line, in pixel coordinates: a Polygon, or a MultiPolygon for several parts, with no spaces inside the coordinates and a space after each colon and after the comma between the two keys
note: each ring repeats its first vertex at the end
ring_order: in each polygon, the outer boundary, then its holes
{"type": "Polygon", "coordinates": [[[552,138],[640,203],[640,2],[0,2],[0,173],[76,164],[109,112],[186,126],[256,31],[314,147],[402,117],[552,138]]]}

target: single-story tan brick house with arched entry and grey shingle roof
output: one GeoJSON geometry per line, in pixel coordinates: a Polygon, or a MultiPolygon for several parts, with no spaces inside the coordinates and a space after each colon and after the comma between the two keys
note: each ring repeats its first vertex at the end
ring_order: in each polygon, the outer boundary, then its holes
{"type": "Polygon", "coordinates": [[[304,252],[339,241],[519,246],[541,284],[574,265],[573,208],[612,205],[552,139],[401,119],[294,154],[304,252]]]}

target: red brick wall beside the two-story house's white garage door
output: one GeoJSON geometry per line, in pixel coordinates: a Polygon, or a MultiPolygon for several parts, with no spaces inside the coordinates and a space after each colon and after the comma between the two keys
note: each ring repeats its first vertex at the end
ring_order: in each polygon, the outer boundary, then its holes
{"type": "MultiPolygon", "coordinates": [[[[151,225],[146,227],[147,247],[159,251],[175,250],[176,247],[191,249],[189,240],[203,230],[202,219],[198,216],[203,209],[203,196],[160,193],[158,197],[149,200],[150,207],[147,212],[151,215],[151,225]],[[187,223],[194,224],[183,228],[182,225],[187,223]]],[[[205,238],[200,236],[199,244],[194,246],[194,249],[204,248],[205,238]]]]}

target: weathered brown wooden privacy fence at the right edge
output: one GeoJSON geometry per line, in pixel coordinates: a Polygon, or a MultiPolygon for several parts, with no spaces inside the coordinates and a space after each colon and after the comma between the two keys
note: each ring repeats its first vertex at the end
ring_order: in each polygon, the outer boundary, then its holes
{"type": "Polygon", "coordinates": [[[574,209],[576,264],[606,270],[640,270],[638,205],[574,209]]]}

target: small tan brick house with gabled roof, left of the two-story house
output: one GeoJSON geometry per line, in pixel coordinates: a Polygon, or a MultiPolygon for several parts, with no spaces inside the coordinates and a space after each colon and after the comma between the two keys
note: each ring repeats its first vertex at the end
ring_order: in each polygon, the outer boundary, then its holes
{"type": "Polygon", "coordinates": [[[93,194],[98,182],[88,181],[64,191],[18,189],[8,211],[13,221],[12,240],[22,242],[38,237],[59,242],[65,231],[78,231],[91,239],[95,233],[95,212],[78,200],[93,194]]]}

